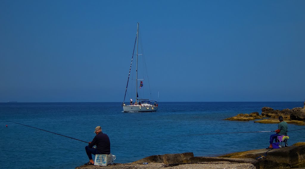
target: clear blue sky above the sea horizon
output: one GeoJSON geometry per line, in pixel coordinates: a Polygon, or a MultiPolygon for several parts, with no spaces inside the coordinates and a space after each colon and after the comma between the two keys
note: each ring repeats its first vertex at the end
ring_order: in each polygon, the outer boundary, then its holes
{"type": "Polygon", "coordinates": [[[122,102],[140,23],[159,101],[304,101],[305,1],[0,2],[0,102],[122,102]]]}

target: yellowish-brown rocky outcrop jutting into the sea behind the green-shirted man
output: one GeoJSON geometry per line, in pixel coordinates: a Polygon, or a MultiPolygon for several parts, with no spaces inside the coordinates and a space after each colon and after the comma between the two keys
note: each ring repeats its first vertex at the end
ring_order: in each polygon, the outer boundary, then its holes
{"type": "Polygon", "coordinates": [[[254,121],[255,123],[278,123],[278,117],[282,116],[284,121],[289,124],[305,125],[305,102],[304,107],[295,107],[293,109],[274,110],[271,107],[263,107],[261,114],[252,112],[250,114],[237,114],[234,117],[225,120],[236,121],[254,121]]]}

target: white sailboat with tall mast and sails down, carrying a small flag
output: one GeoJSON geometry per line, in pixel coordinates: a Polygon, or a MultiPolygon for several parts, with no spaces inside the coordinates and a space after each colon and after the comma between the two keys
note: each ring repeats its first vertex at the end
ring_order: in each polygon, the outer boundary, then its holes
{"type": "MultiPolygon", "coordinates": [[[[123,104],[122,104],[123,110],[124,110],[124,112],[152,112],[152,111],[157,111],[158,110],[158,101],[150,100],[150,99],[143,99],[142,96],[139,97],[139,95],[138,95],[138,94],[140,94],[140,95],[142,94],[142,90],[144,89],[143,85],[144,85],[144,82],[146,80],[146,79],[144,79],[144,76],[143,76],[143,79],[141,79],[138,76],[139,57],[141,57],[141,58],[143,57],[142,60],[145,62],[144,54],[139,54],[138,53],[138,49],[139,49],[138,46],[139,46],[139,23],[138,23],[138,27],[137,27],[137,35],[136,35],[136,39],[135,39],[134,50],[133,50],[133,54],[132,54],[132,58],[131,58],[131,64],[130,64],[128,79],[127,79],[124,101],[123,101],[123,104]],[[125,104],[125,98],[126,98],[126,93],[127,93],[127,89],[128,89],[128,82],[129,82],[129,78],[130,78],[130,75],[131,75],[131,68],[133,66],[132,60],[133,60],[134,53],[135,53],[135,47],[136,47],[136,65],[134,66],[135,67],[135,74],[136,74],[136,77],[134,79],[135,80],[135,86],[134,86],[135,88],[133,87],[133,85],[132,85],[132,87],[130,87],[131,90],[135,89],[135,92],[131,92],[131,96],[128,97],[128,98],[130,98],[130,104],[129,103],[125,104]],[[140,81],[140,83],[138,83],[138,81],[140,81]],[[132,96],[134,96],[135,98],[132,99],[132,96]]],[[[143,50],[142,50],[142,53],[143,53],[143,50]]],[[[143,64],[143,65],[146,65],[146,64],[143,64]]],[[[147,72],[146,72],[146,74],[147,74],[147,72]]],[[[131,78],[131,80],[132,80],[132,78],[131,78]]],[[[147,76],[147,83],[149,83],[148,76],[147,76]]],[[[149,85],[146,85],[146,86],[148,87],[149,85]]],[[[151,94],[151,92],[150,92],[150,94],[151,94]]]]}

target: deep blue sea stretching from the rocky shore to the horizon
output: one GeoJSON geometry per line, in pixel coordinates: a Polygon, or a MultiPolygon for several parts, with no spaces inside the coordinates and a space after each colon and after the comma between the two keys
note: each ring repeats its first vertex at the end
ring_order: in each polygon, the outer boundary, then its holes
{"type": "MultiPolygon", "coordinates": [[[[292,109],[303,102],[160,102],[157,112],[124,113],[121,103],[0,103],[0,168],[75,168],[88,162],[87,143],[101,126],[111,142],[115,163],[167,153],[193,152],[215,157],[262,149],[277,124],[227,121],[262,107],[292,109]],[[29,125],[50,132],[34,129],[29,125]],[[6,128],[6,125],[8,127],[6,128]],[[253,132],[196,135],[223,132],[253,132]],[[191,135],[191,136],[180,136],[191,135]]],[[[289,124],[289,130],[304,126],[289,124]]],[[[304,142],[305,129],[288,132],[288,144],[304,142]]],[[[94,156],[93,156],[94,158],[94,156]]]]}

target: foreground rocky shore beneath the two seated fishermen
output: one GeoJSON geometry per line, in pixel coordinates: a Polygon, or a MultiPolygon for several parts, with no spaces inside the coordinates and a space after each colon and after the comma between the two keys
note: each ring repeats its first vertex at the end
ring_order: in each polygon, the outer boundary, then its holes
{"type": "Polygon", "coordinates": [[[220,157],[194,157],[193,153],[164,154],[145,157],[141,160],[108,166],[80,166],[75,169],[290,169],[304,167],[305,143],[296,143],[289,147],[273,149],[250,150],[231,153],[220,157]],[[257,157],[267,154],[266,158],[257,157]],[[148,163],[148,164],[143,164],[148,163]]]}

